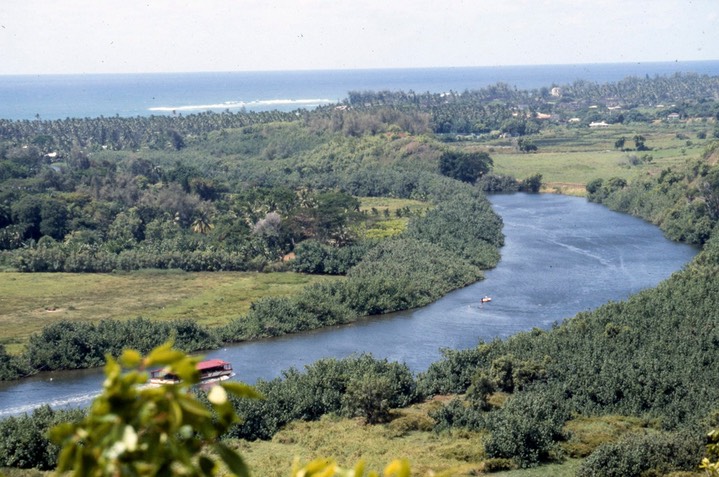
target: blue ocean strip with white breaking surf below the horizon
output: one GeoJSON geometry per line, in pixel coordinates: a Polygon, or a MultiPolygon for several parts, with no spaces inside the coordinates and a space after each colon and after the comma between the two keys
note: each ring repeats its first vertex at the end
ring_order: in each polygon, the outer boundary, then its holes
{"type": "Polygon", "coordinates": [[[518,89],[628,76],[719,75],[719,61],[287,72],[0,76],[0,119],[292,111],[349,91],[462,92],[498,82],[518,89]]]}

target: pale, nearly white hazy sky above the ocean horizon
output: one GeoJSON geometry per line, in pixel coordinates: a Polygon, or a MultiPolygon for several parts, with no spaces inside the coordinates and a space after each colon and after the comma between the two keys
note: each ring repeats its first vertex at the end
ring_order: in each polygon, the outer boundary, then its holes
{"type": "Polygon", "coordinates": [[[0,75],[717,59],[717,0],[0,0],[0,75]]]}

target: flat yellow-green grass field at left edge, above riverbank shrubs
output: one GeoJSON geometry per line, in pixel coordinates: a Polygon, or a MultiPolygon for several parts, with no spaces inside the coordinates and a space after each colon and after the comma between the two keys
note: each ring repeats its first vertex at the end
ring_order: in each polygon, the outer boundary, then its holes
{"type": "Polygon", "coordinates": [[[297,273],[0,273],[0,327],[9,352],[59,320],[192,318],[207,326],[245,313],[264,296],[291,295],[328,277],[297,273]]]}

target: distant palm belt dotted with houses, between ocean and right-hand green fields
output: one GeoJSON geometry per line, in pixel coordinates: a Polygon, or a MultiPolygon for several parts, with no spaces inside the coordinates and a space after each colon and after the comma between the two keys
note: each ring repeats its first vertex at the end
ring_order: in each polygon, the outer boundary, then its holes
{"type": "Polygon", "coordinates": [[[717,77],[683,73],[629,77],[610,83],[577,80],[532,90],[497,83],[445,93],[351,91],[347,104],[357,110],[383,107],[427,113],[428,125],[436,134],[525,136],[570,118],[579,119],[583,127],[593,121],[666,120],[672,113],[682,118],[717,119],[718,93],[717,77]],[[656,112],[646,113],[640,108],[656,108],[656,112]]]}

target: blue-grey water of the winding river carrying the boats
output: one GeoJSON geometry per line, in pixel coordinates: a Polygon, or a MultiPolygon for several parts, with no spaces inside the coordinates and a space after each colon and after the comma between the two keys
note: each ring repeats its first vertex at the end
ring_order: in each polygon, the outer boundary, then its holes
{"type": "MultiPolygon", "coordinates": [[[[236,379],[254,383],[290,367],[353,353],[400,361],[420,372],[442,348],[462,349],[507,337],[618,301],[653,287],[681,269],[697,249],[665,239],[640,219],[585,199],[560,195],[494,195],[505,246],[483,281],[424,308],[351,325],[212,351],[233,363],[236,379]],[[490,303],[480,299],[491,296],[490,303]]],[[[0,383],[0,417],[49,403],[84,406],[100,391],[98,369],[44,373],[0,383]]]]}

